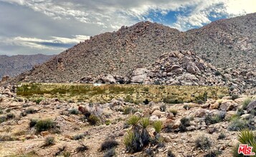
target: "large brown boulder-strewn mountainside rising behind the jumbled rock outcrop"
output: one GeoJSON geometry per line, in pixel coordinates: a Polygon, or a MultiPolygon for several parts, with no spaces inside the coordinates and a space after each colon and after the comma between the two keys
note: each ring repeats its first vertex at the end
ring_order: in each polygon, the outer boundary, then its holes
{"type": "MultiPolygon", "coordinates": [[[[186,32],[148,21],[122,26],[118,31],[93,36],[67,49],[14,81],[75,82],[90,75],[129,76],[138,67],[153,68],[162,54],[182,50],[202,57],[219,68],[222,75],[229,69],[232,71],[230,81],[250,79],[253,84],[255,24],[256,14],[248,14],[186,32]]],[[[209,77],[206,75],[206,78],[209,77]]]]}

